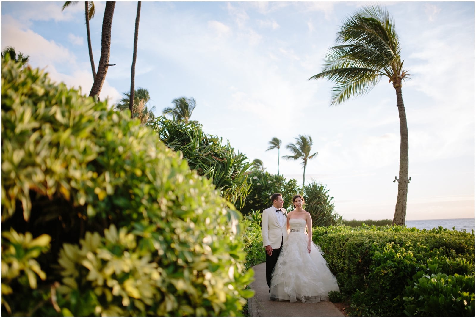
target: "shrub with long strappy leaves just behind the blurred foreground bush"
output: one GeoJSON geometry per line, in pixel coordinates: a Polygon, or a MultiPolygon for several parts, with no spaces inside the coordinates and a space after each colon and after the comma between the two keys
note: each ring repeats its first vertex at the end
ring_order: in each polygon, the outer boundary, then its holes
{"type": "Polygon", "coordinates": [[[159,116],[147,125],[166,145],[182,153],[190,169],[209,178],[225,199],[238,207],[244,203],[251,188],[251,164],[246,155],[236,153],[229,142],[222,145],[218,136],[205,134],[195,121],[186,123],[159,116]]]}

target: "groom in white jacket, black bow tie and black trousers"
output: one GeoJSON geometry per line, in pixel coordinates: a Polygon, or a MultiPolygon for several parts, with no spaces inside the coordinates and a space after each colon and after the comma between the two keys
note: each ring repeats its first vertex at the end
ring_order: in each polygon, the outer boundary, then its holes
{"type": "Polygon", "coordinates": [[[281,193],[271,195],[273,206],[263,210],[261,218],[261,235],[266,250],[266,282],[271,292],[271,273],[278,261],[283,243],[288,239],[286,209],[283,209],[281,193]]]}

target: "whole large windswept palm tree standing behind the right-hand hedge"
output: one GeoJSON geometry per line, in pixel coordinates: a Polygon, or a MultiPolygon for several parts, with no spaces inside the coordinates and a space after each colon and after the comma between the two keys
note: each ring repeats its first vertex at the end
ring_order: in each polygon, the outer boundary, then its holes
{"type": "Polygon", "coordinates": [[[388,77],[397,93],[400,120],[400,168],[397,204],[392,224],[403,225],[407,214],[408,128],[402,83],[410,75],[403,68],[400,42],[387,9],[367,6],[347,18],[337,32],[337,46],[330,48],[323,71],[309,79],[335,82],[331,105],[361,96],[388,77]]]}

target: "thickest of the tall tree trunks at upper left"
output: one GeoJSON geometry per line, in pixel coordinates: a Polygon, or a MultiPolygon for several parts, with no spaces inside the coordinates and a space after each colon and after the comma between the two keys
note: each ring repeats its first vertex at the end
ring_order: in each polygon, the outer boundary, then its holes
{"type": "Polygon", "coordinates": [[[104,10],[104,18],[102,19],[102,35],[101,35],[101,57],[99,58],[98,73],[94,77],[94,84],[91,87],[89,96],[99,97],[102,85],[106,79],[108,72],[109,55],[111,50],[111,28],[112,16],[114,14],[115,1],[107,1],[106,9],[104,10]]]}

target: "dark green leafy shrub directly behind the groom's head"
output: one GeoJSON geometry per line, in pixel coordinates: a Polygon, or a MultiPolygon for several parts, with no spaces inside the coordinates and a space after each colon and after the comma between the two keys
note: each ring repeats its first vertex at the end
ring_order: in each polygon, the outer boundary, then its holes
{"type": "Polygon", "coordinates": [[[273,193],[281,193],[284,208],[293,210],[291,199],[299,189],[296,179],[287,181],[282,175],[262,170],[253,170],[249,176],[253,181],[253,186],[246,197],[245,205],[240,209],[243,215],[248,215],[252,210],[268,209],[272,205],[271,195],[273,193]]]}

